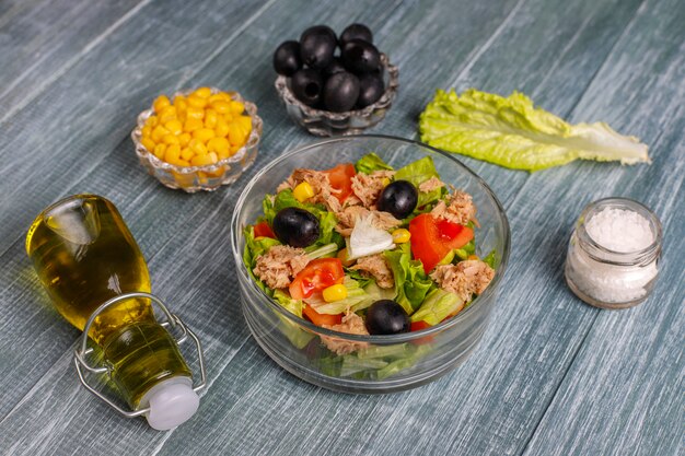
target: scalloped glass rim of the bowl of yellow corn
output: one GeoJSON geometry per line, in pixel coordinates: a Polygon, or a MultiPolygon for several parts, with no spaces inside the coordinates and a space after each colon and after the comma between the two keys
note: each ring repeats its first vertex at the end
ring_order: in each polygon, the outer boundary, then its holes
{"type": "MultiPolygon", "coordinates": [[[[158,159],[156,155],[152,153],[152,151],[149,151],[140,142],[140,138],[142,137],[142,127],[144,126],[148,117],[150,117],[154,113],[154,107],[150,106],[148,109],[143,110],[142,113],[138,115],[138,117],[136,118],[136,128],[133,128],[130,135],[131,139],[133,140],[133,144],[136,145],[136,149],[135,149],[136,154],[140,155],[139,151],[143,151],[144,159],[147,159],[154,168],[171,171],[171,172],[178,173],[178,174],[193,174],[197,172],[212,173],[217,171],[218,168],[220,168],[221,166],[231,165],[231,164],[240,164],[245,157],[245,155],[247,154],[247,151],[249,149],[257,147],[262,139],[260,130],[262,130],[263,121],[262,121],[262,117],[257,115],[257,105],[243,98],[243,96],[239,92],[221,91],[220,89],[217,89],[213,86],[209,89],[211,90],[212,94],[216,94],[218,92],[227,92],[229,95],[231,95],[231,98],[243,103],[245,105],[245,112],[252,118],[253,128],[252,128],[252,131],[249,132],[249,137],[247,138],[247,141],[245,142],[245,144],[243,144],[243,147],[237,150],[237,152],[235,152],[233,155],[229,157],[218,161],[217,163],[212,163],[210,165],[201,165],[201,166],[177,166],[177,165],[173,165],[171,163],[167,163],[167,162],[164,162],[163,160],[158,159]]],[[[171,100],[174,100],[174,97],[177,95],[187,96],[196,90],[197,89],[177,90],[176,92],[172,94],[171,100]]]]}

